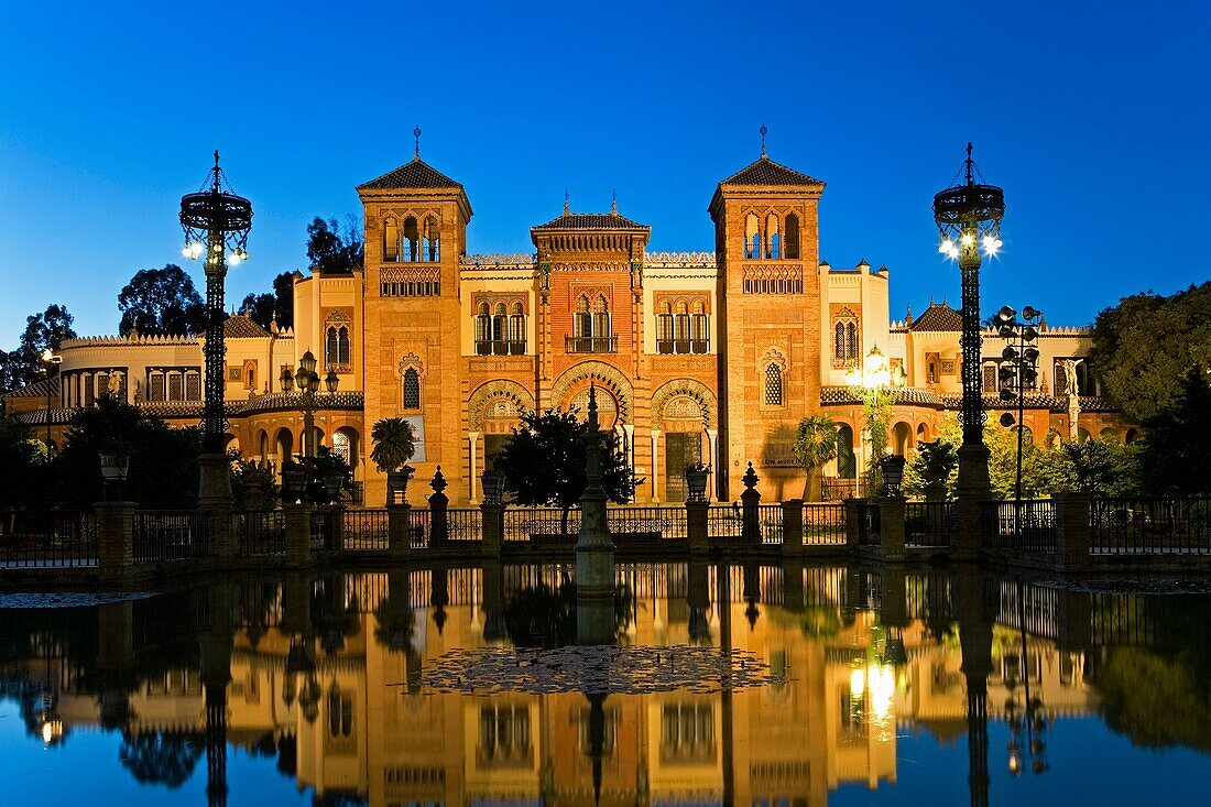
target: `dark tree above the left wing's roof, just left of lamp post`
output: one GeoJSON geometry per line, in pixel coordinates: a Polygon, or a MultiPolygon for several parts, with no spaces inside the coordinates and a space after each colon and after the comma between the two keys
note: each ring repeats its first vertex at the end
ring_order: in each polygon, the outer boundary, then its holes
{"type": "Polygon", "coordinates": [[[182,336],[206,330],[206,305],[194,281],[177,264],[140,269],[117,294],[120,336],[138,330],[145,336],[182,336]]]}

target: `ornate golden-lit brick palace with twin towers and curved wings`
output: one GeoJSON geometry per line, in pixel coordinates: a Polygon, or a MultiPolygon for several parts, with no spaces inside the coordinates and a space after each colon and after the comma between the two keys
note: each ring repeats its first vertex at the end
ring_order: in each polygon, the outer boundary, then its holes
{"type": "MultiPolygon", "coordinates": [[[[310,350],[340,378],[338,393],[321,393],[321,440],[350,458],[372,504],[386,487],[363,445],[377,420],[411,418],[421,437],[418,477],[440,464],[450,498],[476,502],[518,414],[582,406],[590,384],[644,480],[641,502],[683,499],[683,470],[695,460],[712,467],[721,499],[739,494],[750,460],[767,500],[798,497],[794,428],[817,413],[843,424],[826,475],[855,479],[869,447],[846,372],[872,351],[885,359],[896,401],[890,448],[909,453],[958,407],[960,317],[930,301],[919,316],[891,321],[886,267],[825,262],[823,190],[763,149],[710,199],[713,252],[648,252],[652,228],[616,205],[580,213],[566,201],[530,228],[533,252],[476,256],[466,189],[418,154],[357,187],[363,268],[295,273],[293,331],[228,321],[230,446],[279,462],[298,451],[299,399],[279,378],[310,350]]],[[[986,333],[988,390],[1003,347],[986,333]]],[[[1044,326],[1039,348],[1043,372],[1026,413],[1034,435],[1133,439],[1085,372],[1084,330],[1044,326]]],[[[58,378],[7,400],[33,424],[48,418],[52,441],[74,408],[107,390],[172,423],[200,418],[200,337],[74,339],[62,355],[58,378]]],[[[1004,404],[991,394],[987,406],[1004,404]]],[[[989,428],[1000,428],[995,420],[989,428]]],[[[427,492],[413,487],[418,500],[427,492]]]]}

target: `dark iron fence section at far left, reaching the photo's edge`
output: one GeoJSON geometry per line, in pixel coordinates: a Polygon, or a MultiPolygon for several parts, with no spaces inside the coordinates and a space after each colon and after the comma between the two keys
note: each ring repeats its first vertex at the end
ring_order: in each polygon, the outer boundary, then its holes
{"type": "Polygon", "coordinates": [[[97,517],[92,513],[0,513],[0,570],[96,562],[97,517]]]}

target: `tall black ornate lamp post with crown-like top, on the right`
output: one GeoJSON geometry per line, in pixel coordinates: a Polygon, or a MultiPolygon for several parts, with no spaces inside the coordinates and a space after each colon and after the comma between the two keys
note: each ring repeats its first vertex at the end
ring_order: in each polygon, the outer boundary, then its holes
{"type": "MultiPolygon", "coordinates": [[[[987,496],[988,447],[983,442],[982,373],[980,366],[980,251],[993,256],[1000,248],[1000,219],[1005,214],[1005,191],[975,181],[976,164],[968,159],[960,173],[964,182],[934,196],[934,222],[942,235],[937,247],[947,258],[958,259],[963,280],[963,445],[959,447],[959,496],[987,496]]],[[[982,177],[981,177],[982,178],[982,177]]]]}

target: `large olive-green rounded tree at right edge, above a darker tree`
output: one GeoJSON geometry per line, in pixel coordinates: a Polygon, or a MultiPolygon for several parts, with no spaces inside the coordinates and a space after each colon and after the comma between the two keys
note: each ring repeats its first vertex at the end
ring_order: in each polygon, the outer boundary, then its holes
{"type": "Polygon", "coordinates": [[[1170,297],[1124,297],[1094,321],[1089,364],[1103,390],[1136,423],[1158,416],[1194,362],[1211,366],[1211,281],[1170,297]]]}

